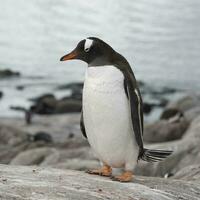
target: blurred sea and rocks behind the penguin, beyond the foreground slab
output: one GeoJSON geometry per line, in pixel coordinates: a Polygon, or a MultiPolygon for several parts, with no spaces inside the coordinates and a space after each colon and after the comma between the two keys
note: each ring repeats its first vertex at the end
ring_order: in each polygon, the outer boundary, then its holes
{"type": "Polygon", "coordinates": [[[187,153],[198,141],[190,125],[200,115],[199,0],[6,0],[0,8],[1,163],[98,165],[79,128],[87,65],[59,61],[89,36],[132,66],[144,99],[144,141],[176,149],[171,161],[136,173],[163,176],[200,163],[199,143],[194,157],[187,153]]]}

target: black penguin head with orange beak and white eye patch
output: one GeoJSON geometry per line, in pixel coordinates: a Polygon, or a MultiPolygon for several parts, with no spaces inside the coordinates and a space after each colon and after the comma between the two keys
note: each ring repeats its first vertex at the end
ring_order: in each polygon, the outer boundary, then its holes
{"type": "Polygon", "coordinates": [[[76,48],[69,54],[64,55],[60,61],[78,59],[88,65],[105,65],[111,63],[114,50],[99,38],[89,37],[81,40],[76,48]]]}

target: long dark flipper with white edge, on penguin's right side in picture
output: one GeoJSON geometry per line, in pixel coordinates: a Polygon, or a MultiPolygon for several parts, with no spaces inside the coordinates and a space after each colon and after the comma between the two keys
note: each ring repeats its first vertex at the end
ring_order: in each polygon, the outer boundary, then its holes
{"type": "Polygon", "coordinates": [[[140,159],[144,153],[143,139],[142,139],[143,103],[139,88],[137,87],[136,79],[134,77],[133,72],[131,71],[125,73],[124,89],[130,103],[133,131],[135,134],[136,142],[139,146],[138,159],[140,159]]]}

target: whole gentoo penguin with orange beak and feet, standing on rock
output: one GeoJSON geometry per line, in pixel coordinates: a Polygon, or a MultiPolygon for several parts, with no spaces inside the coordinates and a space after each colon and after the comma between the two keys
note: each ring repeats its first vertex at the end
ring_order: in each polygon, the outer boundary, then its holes
{"type": "Polygon", "coordinates": [[[172,151],[143,146],[142,98],[128,61],[96,37],[80,41],[60,61],[79,59],[88,64],[83,87],[81,130],[102,162],[90,174],[129,182],[137,161],[161,161],[172,151]],[[124,168],[111,176],[112,168],[124,168]]]}

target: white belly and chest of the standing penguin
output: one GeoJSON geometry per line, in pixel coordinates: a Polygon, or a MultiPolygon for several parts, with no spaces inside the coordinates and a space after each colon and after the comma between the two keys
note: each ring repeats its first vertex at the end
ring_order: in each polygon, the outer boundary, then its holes
{"type": "Polygon", "coordinates": [[[138,156],[123,84],[123,74],[116,67],[87,69],[83,89],[86,134],[98,158],[112,167],[134,165],[138,156]]]}

